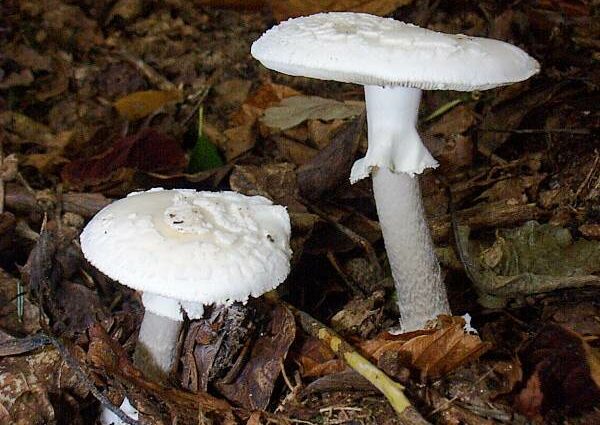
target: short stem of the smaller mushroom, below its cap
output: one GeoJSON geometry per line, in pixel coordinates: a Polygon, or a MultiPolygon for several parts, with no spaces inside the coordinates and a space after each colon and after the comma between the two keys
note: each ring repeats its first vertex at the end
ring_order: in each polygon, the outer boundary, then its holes
{"type": "Polygon", "coordinates": [[[133,361],[146,376],[165,382],[177,358],[182,320],[172,320],[146,310],[133,361]]]}

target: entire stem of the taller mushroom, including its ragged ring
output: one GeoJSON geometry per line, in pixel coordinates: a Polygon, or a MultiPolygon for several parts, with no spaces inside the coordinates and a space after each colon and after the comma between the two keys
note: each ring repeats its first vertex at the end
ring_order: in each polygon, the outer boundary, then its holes
{"type": "Polygon", "coordinates": [[[440,266],[413,177],[437,162],[416,129],[421,90],[365,86],[369,149],[352,167],[354,182],[373,174],[373,191],[392,269],[403,331],[450,313],[440,266]]]}

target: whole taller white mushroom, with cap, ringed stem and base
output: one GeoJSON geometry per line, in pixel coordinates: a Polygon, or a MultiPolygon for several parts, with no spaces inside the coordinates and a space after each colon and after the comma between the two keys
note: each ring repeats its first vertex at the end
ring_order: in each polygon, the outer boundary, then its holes
{"type": "Polygon", "coordinates": [[[290,19],[252,45],[264,66],[365,87],[369,148],[350,180],[369,174],[405,331],[450,308],[416,174],[437,162],[416,130],[422,90],[485,90],[522,81],[539,64],[511,44],[443,34],[361,13],[290,19]]]}

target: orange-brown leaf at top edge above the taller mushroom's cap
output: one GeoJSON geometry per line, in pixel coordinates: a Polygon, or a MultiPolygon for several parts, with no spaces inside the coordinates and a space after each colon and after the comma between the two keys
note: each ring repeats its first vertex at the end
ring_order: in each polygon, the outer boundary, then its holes
{"type": "Polygon", "coordinates": [[[362,12],[389,15],[413,0],[269,0],[278,21],[319,12],[362,12]]]}

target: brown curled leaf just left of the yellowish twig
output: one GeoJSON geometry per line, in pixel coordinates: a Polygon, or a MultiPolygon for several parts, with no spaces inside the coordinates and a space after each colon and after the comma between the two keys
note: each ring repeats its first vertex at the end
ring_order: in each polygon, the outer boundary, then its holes
{"type": "Polygon", "coordinates": [[[234,377],[225,377],[216,386],[229,400],[252,410],[269,404],[281,364],[296,337],[296,322],[283,305],[275,307],[268,328],[260,334],[250,358],[234,377]]]}

